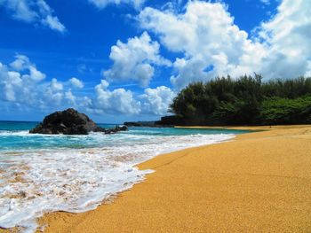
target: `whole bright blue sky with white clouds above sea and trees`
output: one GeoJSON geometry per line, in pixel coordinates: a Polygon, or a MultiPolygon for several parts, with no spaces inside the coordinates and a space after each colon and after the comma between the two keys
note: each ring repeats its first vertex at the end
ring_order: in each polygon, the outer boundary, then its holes
{"type": "Polygon", "coordinates": [[[0,120],[157,120],[190,82],[311,76],[310,0],[0,0],[0,120]]]}

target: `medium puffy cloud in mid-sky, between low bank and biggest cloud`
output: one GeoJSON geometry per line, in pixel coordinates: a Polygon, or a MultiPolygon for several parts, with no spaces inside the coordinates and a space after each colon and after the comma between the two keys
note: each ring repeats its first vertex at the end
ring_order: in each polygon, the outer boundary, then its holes
{"type": "Polygon", "coordinates": [[[117,41],[111,47],[109,58],[114,65],[106,72],[109,82],[135,81],[147,87],[155,73],[154,66],[170,66],[171,62],[159,55],[160,45],[144,32],[140,37],[130,38],[127,43],[117,41]]]}

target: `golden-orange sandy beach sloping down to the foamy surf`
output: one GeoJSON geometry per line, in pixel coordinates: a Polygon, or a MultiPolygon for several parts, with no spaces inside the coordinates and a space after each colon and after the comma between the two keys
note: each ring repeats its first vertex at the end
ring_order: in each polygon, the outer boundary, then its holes
{"type": "MultiPolygon", "coordinates": [[[[240,128],[241,129],[241,128],[240,128]]],[[[44,232],[310,232],[311,126],[259,127],[234,140],[157,156],[133,186],[44,232]]]]}

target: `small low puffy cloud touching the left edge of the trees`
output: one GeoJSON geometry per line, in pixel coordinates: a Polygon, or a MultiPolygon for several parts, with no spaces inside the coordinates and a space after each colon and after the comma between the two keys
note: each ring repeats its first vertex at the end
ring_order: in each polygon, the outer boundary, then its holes
{"type": "Polygon", "coordinates": [[[145,89],[145,93],[141,95],[143,112],[156,115],[167,114],[173,97],[175,97],[175,93],[164,86],[145,89]]]}

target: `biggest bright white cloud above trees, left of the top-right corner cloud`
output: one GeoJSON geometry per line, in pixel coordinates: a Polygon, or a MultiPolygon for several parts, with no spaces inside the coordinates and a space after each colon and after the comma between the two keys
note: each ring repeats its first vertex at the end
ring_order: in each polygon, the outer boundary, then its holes
{"type": "Polygon", "coordinates": [[[176,74],[171,83],[177,89],[216,75],[259,69],[254,55],[263,53],[263,46],[252,43],[247,33],[234,24],[224,4],[191,1],[181,14],[147,7],[138,19],[141,27],[155,32],[167,49],[184,53],[173,64],[176,74]]]}

